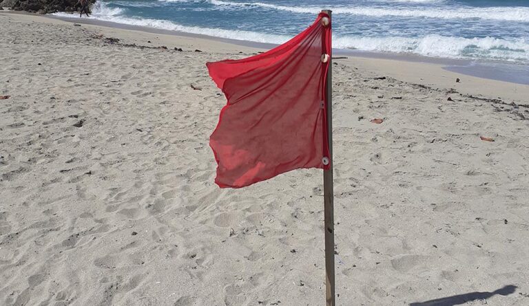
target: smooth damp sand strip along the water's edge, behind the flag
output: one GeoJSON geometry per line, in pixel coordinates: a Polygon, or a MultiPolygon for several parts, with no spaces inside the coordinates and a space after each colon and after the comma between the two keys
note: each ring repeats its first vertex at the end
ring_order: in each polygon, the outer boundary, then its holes
{"type": "MultiPolygon", "coordinates": [[[[56,17],[53,15],[12,11],[0,11],[0,14],[15,14],[19,18],[38,19],[39,21],[50,23],[79,23],[105,32],[107,36],[117,36],[119,39],[124,39],[125,42],[137,43],[138,45],[147,45],[145,44],[147,41],[152,41],[152,45],[175,45],[179,47],[181,42],[186,42],[190,43],[189,47],[196,47],[199,50],[227,54],[239,54],[241,52],[253,54],[264,52],[275,46],[269,43],[222,39],[204,34],[191,34],[140,25],[126,25],[98,19],[56,17]],[[211,43],[216,45],[214,50],[209,47],[211,43]]],[[[169,48],[171,49],[172,47],[169,48]]],[[[342,51],[337,50],[335,55],[346,55],[348,58],[337,60],[335,63],[361,68],[366,72],[395,78],[407,83],[424,85],[433,89],[457,89],[461,94],[483,96],[489,99],[500,98],[516,102],[517,104],[529,105],[527,98],[529,96],[529,85],[509,82],[508,80],[497,80],[497,78],[492,77],[492,74],[499,76],[510,76],[510,74],[497,69],[495,66],[484,67],[483,64],[472,65],[470,61],[466,60],[426,58],[408,54],[398,56],[371,52],[353,52],[353,50],[346,50],[349,51],[346,53],[342,51]],[[461,79],[461,83],[455,83],[457,78],[461,79]]],[[[493,64],[491,63],[490,65],[493,64]]],[[[529,73],[523,69],[520,72],[522,74],[529,73]]]]}

